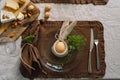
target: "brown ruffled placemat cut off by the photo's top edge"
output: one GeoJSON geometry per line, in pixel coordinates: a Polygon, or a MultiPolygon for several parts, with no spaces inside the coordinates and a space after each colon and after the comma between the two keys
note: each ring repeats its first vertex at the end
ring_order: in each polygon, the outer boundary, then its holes
{"type": "Polygon", "coordinates": [[[105,5],[108,0],[31,0],[34,3],[72,3],[72,4],[89,4],[105,5]]]}

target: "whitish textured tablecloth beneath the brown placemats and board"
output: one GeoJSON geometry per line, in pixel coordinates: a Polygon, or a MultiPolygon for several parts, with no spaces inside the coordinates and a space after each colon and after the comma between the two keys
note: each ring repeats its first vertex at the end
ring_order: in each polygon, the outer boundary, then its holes
{"type": "MultiPolygon", "coordinates": [[[[0,2],[0,8],[2,3],[0,2]]],[[[43,17],[43,9],[47,4],[36,4],[41,9],[38,19],[43,17]]],[[[49,20],[99,20],[104,26],[106,74],[104,78],[120,78],[120,0],[109,0],[105,6],[49,4],[52,6],[49,20]]],[[[19,72],[19,54],[21,51],[21,37],[16,41],[15,57],[3,56],[5,52],[0,45],[0,80],[28,80],[19,72]]],[[[39,80],[39,79],[35,79],[39,80]]]]}

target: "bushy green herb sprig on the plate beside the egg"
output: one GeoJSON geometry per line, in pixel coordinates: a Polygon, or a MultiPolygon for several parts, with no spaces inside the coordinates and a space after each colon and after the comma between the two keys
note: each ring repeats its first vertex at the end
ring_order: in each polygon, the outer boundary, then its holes
{"type": "Polygon", "coordinates": [[[57,65],[63,67],[67,61],[71,58],[71,51],[79,50],[81,46],[85,46],[85,38],[82,35],[69,35],[66,39],[69,47],[69,53],[64,59],[57,65]]]}

